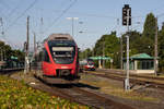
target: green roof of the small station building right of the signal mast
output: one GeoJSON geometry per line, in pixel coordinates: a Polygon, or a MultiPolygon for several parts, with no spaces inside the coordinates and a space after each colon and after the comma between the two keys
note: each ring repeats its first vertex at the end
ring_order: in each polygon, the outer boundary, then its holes
{"type": "Polygon", "coordinates": [[[151,57],[147,53],[138,53],[130,57],[130,59],[154,59],[154,57],[151,57]]]}

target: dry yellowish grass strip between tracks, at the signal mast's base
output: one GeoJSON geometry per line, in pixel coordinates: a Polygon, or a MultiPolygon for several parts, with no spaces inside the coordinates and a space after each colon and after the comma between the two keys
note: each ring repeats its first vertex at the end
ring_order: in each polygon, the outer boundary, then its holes
{"type": "Polygon", "coordinates": [[[82,83],[89,84],[92,86],[101,87],[99,90],[113,95],[116,97],[125,98],[125,99],[131,99],[131,100],[141,100],[141,101],[157,101],[157,98],[147,96],[145,94],[141,94],[134,90],[125,92],[124,88],[116,86],[112,82],[107,82],[105,80],[97,80],[94,75],[84,75],[82,76],[83,80],[81,80],[82,83]]]}

